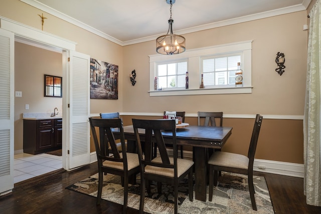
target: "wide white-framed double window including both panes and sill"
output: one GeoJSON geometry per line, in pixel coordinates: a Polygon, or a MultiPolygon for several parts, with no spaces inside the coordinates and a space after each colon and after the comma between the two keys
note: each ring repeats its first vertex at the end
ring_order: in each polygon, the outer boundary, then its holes
{"type": "Polygon", "coordinates": [[[149,96],[252,93],[251,53],[252,41],[244,41],[187,50],[178,55],[150,55],[149,96]],[[238,63],[243,70],[243,82],[235,87],[238,63]],[[200,88],[202,74],[205,88],[200,88]],[[155,77],[157,89],[154,89],[155,77]]]}

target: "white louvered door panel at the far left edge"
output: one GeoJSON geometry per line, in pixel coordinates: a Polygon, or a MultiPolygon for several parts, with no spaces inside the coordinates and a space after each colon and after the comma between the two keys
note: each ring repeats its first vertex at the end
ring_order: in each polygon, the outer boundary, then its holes
{"type": "Polygon", "coordinates": [[[0,195],[14,188],[15,36],[0,29],[0,195]]]}

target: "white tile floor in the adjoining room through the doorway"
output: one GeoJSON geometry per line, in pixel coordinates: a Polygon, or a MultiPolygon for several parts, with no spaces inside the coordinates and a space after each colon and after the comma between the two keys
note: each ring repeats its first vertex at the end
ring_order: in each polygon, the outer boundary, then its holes
{"type": "Polygon", "coordinates": [[[14,182],[18,183],[62,168],[62,156],[50,154],[16,154],[14,182]]]}

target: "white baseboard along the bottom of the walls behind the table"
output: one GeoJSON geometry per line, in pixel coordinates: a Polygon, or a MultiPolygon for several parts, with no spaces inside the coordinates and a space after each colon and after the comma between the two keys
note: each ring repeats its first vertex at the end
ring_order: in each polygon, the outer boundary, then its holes
{"type": "MultiPolygon", "coordinates": [[[[173,149],[168,149],[169,155],[173,155],[173,149]]],[[[184,158],[193,159],[192,151],[184,151],[184,158]]],[[[90,153],[90,163],[96,162],[96,152],[90,153]]],[[[274,160],[255,159],[253,165],[254,171],[280,174],[292,177],[304,177],[304,165],[298,163],[281,162],[274,160]]]]}

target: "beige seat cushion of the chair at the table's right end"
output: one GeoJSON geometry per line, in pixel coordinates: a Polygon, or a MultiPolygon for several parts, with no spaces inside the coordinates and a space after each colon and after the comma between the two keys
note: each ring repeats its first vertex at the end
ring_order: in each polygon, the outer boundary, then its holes
{"type": "Polygon", "coordinates": [[[249,158],[242,154],[215,151],[210,157],[208,163],[216,166],[227,166],[233,168],[247,169],[249,164],[249,158]]]}

